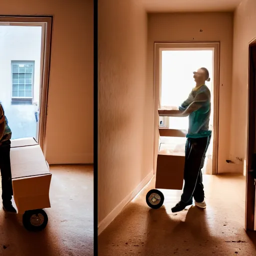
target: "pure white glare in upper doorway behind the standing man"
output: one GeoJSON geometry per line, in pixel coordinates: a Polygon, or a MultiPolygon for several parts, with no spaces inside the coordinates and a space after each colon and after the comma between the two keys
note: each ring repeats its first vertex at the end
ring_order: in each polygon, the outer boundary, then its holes
{"type": "MultiPolygon", "coordinates": [[[[200,67],[208,69],[206,85],[212,91],[212,59],[213,50],[162,50],[161,106],[179,106],[195,86],[193,71],[200,67]]],[[[168,127],[187,130],[188,117],[169,117],[168,127]]]]}

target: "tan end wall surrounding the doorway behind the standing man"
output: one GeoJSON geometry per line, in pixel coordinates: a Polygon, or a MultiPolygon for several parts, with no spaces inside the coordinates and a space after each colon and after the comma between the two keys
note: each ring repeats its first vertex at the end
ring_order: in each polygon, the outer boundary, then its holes
{"type": "MultiPolygon", "coordinates": [[[[220,41],[218,172],[236,172],[229,159],[229,130],[232,77],[232,13],[148,14],[148,90],[153,93],[154,41],[220,41]],[[203,31],[200,32],[199,30],[203,31]],[[223,84],[223,85],[222,85],[223,84]]],[[[191,85],[192,86],[192,85],[191,85]]],[[[153,102],[151,103],[153,104],[153,102]]]]}

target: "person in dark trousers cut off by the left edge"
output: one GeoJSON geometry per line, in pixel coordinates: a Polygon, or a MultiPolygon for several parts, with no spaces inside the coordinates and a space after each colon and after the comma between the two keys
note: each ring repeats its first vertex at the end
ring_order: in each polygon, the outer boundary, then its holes
{"type": "Polygon", "coordinates": [[[2,184],[2,206],[8,212],[16,212],[12,206],[13,195],[10,171],[10,138],[11,130],[0,103],[0,171],[2,184]]]}

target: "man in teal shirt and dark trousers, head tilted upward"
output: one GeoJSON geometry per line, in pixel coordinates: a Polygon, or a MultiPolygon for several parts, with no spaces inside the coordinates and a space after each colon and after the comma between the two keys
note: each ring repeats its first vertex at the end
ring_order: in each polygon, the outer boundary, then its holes
{"type": "Polygon", "coordinates": [[[209,72],[205,67],[193,72],[195,87],[188,98],[179,106],[175,113],[189,119],[185,145],[184,188],[180,201],[171,209],[172,212],[183,210],[192,204],[205,208],[202,172],[205,153],[207,151],[211,131],[209,130],[210,91],[205,85],[209,81],[209,72]]]}

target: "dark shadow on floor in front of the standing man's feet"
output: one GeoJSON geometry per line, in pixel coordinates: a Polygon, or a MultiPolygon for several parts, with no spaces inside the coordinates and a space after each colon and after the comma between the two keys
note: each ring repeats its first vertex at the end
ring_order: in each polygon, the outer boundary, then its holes
{"type": "Polygon", "coordinates": [[[210,235],[206,218],[204,210],[193,206],[171,214],[165,207],[149,209],[142,255],[227,255],[223,245],[216,245],[219,239],[210,235]]]}

